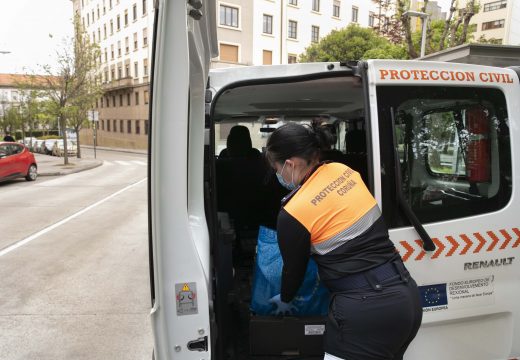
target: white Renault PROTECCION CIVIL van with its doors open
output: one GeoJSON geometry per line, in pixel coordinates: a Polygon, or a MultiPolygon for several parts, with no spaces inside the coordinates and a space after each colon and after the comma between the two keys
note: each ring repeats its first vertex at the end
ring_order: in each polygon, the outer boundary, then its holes
{"type": "Polygon", "coordinates": [[[209,71],[215,3],[158,1],[150,269],[156,359],[320,358],[323,319],[249,310],[255,241],[283,190],[225,161],[230,129],[318,123],[359,171],[421,289],[406,359],[520,357],[519,70],[370,60],[209,71]],[[202,7],[200,7],[203,5],[202,7]]]}

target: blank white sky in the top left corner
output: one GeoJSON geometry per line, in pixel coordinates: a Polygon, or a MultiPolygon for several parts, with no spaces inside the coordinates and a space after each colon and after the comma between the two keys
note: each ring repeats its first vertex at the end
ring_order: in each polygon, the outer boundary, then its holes
{"type": "Polygon", "coordinates": [[[0,73],[55,66],[56,50],[72,34],[70,0],[0,0],[0,73]]]}

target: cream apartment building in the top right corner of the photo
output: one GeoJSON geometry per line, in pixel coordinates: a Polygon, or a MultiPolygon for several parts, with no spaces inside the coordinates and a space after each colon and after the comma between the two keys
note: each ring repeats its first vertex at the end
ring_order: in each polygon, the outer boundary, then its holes
{"type": "Polygon", "coordinates": [[[475,40],[484,38],[497,44],[520,45],[520,1],[481,0],[479,12],[470,24],[477,27],[475,40]]]}

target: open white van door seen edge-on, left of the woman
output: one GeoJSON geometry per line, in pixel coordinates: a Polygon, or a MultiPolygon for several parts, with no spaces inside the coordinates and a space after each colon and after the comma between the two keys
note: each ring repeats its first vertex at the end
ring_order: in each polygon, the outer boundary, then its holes
{"type": "Polygon", "coordinates": [[[215,2],[156,0],[154,8],[149,117],[154,355],[210,359],[203,149],[206,79],[217,55],[215,2]]]}

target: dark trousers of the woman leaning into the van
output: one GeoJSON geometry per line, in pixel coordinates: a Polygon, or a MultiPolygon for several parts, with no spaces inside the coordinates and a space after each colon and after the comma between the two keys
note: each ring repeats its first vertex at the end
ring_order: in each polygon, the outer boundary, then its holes
{"type": "Polygon", "coordinates": [[[402,269],[382,281],[368,274],[368,286],[333,293],[326,353],[345,360],[403,358],[421,325],[422,306],[417,284],[402,269]]]}

